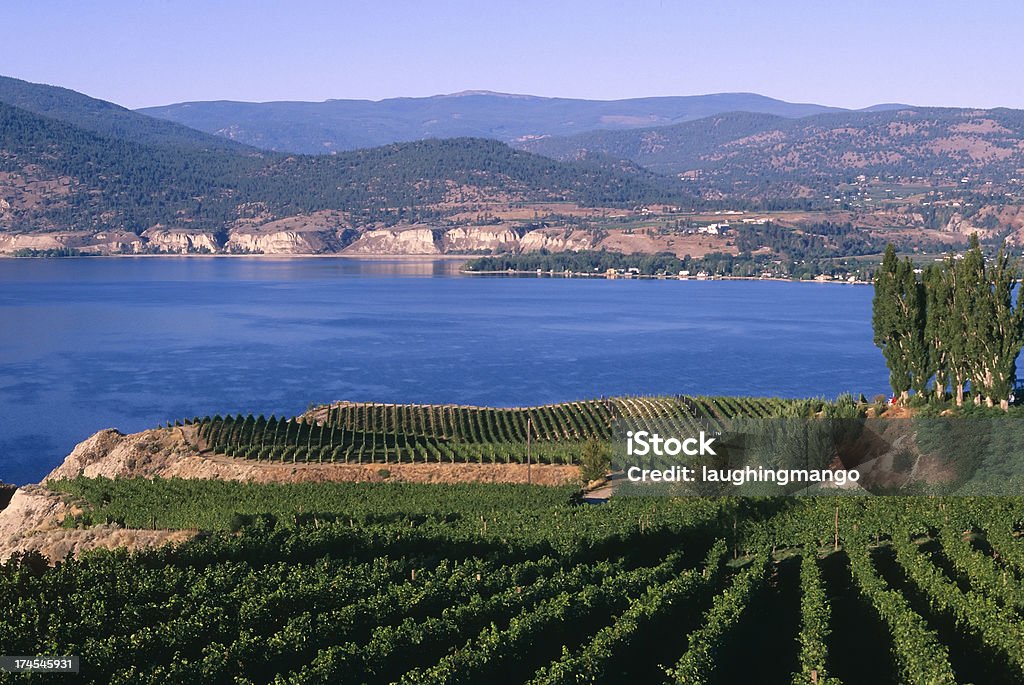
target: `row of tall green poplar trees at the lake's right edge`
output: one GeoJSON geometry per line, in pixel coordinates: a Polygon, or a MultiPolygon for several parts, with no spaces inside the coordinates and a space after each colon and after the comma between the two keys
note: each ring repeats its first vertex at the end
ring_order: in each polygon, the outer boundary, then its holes
{"type": "Polygon", "coordinates": [[[874,276],[874,344],[889,366],[900,401],[910,390],[963,406],[1009,409],[1024,345],[1024,308],[1015,302],[1019,264],[1005,248],[985,260],[977,236],[966,253],[918,273],[909,259],[886,248],[874,276]]]}

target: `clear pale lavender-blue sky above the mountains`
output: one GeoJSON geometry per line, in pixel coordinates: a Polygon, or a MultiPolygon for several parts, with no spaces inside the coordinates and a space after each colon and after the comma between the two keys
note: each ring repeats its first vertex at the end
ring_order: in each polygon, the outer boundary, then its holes
{"type": "Polygon", "coordinates": [[[1024,109],[1019,0],[5,0],[0,75],[129,108],[462,90],[1024,109]]]}

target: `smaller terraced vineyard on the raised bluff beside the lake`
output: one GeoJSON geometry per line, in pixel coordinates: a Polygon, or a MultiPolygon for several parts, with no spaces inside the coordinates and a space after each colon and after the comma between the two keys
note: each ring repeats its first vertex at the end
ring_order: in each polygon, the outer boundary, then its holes
{"type": "MultiPolygon", "coordinates": [[[[821,402],[817,402],[820,404],[821,402]]],[[[610,440],[616,428],[655,426],[677,435],[721,431],[737,417],[811,411],[815,402],[749,397],[615,397],[544,406],[340,402],[303,416],[205,417],[201,452],[267,462],[573,464],[580,444],[610,440]]]]}

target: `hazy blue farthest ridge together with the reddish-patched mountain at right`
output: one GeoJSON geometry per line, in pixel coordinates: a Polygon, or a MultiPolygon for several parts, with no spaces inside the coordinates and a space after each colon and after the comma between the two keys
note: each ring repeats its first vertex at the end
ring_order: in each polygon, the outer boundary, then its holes
{"type": "Polygon", "coordinates": [[[140,113],[306,154],[490,138],[564,162],[625,160],[683,175],[696,195],[759,201],[827,195],[860,174],[974,184],[1024,172],[1024,112],[1007,109],[887,103],[851,111],[754,93],[586,100],[470,91],[380,101],[186,102],[140,113]]]}

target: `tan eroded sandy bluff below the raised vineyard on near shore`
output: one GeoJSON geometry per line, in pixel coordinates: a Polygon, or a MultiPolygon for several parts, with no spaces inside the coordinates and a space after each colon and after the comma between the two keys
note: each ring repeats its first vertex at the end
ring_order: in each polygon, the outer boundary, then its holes
{"type": "MultiPolygon", "coordinates": [[[[158,428],[125,435],[113,428],[80,442],[36,485],[17,488],[0,511],[0,562],[18,552],[39,551],[51,562],[96,548],[141,548],[177,543],[197,531],[139,530],[117,525],[85,529],[65,528],[79,505],[49,489],[52,480],[89,478],[209,478],[245,482],[370,482],[390,481],[521,482],[527,480],[521,464],[389,464],[384,475],[379,464],[269,464],[212,455],[202,449],[190,426],[158,428]]],[[[535,465],[538,484],[575,482],[574,466],[535,465]]]]}

